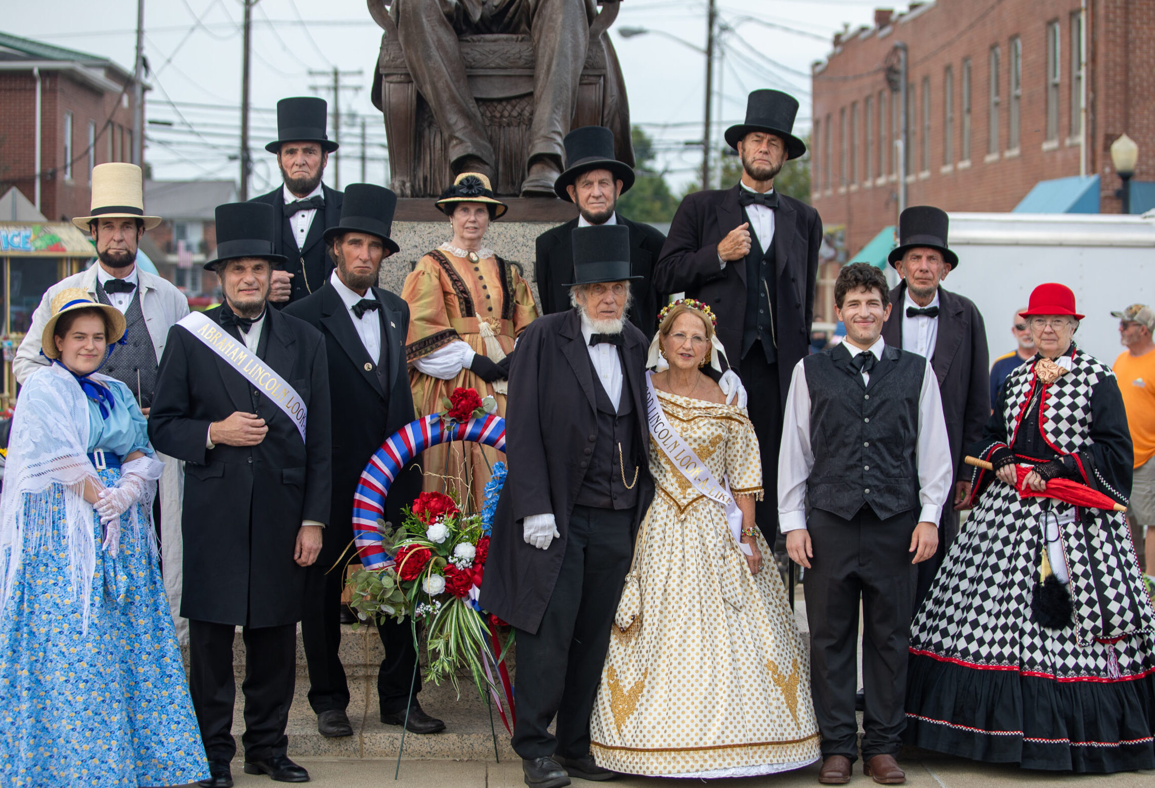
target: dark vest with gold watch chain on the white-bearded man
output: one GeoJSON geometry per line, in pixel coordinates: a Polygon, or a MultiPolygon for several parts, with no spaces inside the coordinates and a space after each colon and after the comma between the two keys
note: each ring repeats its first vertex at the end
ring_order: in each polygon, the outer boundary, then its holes
{"type": "MultiPolygon", "coordinates": [[[[621,358],[621,351],[618,351],[618,358],[621,358]]],[[[593,359],[590,359],[589,368],[594,375],[597,437],[593,445],[582,450],[582,465],[588,463],[589,467],[574,503],[598,509],[633,509],[638,504],[638,479],[641,472],[636,471],[638,464],[634,459],[634,428],[636,425],[629,377],[625,374],[626,365],[623,361],[621,401],[618,404],[617,411],[613,410],[610,395],[605,392],[602,381],[598,380],[593,359]],[[621,478],[623,473],[625,473],[625,482],[628,482],[632,489],[627,489],[621,478]]]]}

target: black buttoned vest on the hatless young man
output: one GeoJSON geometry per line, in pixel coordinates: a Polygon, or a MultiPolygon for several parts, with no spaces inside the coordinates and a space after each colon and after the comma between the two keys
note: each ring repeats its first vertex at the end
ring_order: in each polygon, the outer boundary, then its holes
{"type": "Polygon", "coordinates": [[[843,519],[870,505],[879,519],[918,505],[918,398],[926,359],[889,345],[870,384],[845,345],[803,359],[814,466],[807,500],[843,519]]]}

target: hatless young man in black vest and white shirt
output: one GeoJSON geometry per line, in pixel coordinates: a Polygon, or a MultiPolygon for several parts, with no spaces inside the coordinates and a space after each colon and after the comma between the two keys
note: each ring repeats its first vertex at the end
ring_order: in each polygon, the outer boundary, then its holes
{"type": "Polygon", "coordinates": [[[886,277],[854,263],[834,285],[847,339],[793,368],[778,460],[778,517],[806,568],[811,691],[822,731],[819,782],[850,780],[858,606],[865,617],[863,772],[906,775],[894,760],[906,715],[915,564],[934,555],[951,491],[951,448],[934,372],[881,338],[886,277]],[[811,513],[806,517],[805,506],[811,513]]]}

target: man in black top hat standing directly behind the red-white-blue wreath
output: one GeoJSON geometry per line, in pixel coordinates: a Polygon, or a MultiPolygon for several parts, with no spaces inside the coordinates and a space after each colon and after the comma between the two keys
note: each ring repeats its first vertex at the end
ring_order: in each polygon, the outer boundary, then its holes
{"type": "MultiPolygon", "coordinates": [[[[371,183],[345,189],[341,222],[325,231],[325,243],[336,263],[328,284],[285,307],[325,337],[333,412],[333,503],[325,545],[310,569],[305,617],[300,622],[308,662],[308,703],[322,736],[351,736],[349,683],[341,665],[341,592],[345,550],[353,539],[353,493],[370,457],[389,435],[413,420],[413,399],[405,367],[409,306],[398,295],[377,287],[381,261],[397,252],[389,238],[397,195],[371,183]],[[336,566],[334,566],[336,564],[336,566]]],[[[420,470],[407,466],[386,498],[386,519],[400,523],[401,510],[422,490],[420,470]]],[[[353,558],[356,562],[356,558],[353,558]]],[[[417,703],[409,689],[417,651],[409,622],[386,618],[378,625],[385,660],[377,677],[381,721],[404,723],[419,734],[445,729],[417,703]]]]}

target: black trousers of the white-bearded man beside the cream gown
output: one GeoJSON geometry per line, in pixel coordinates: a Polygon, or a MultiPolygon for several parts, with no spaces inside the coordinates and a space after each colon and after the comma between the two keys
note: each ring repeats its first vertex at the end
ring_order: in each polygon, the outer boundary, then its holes
{"type": "Polygon", "coordinates": [[[534,635],[517,630],[513,749],[522,758],[589,752],[589,716],[629,571],[633,520],[633,510],[574,506],[542,624],[534,635]],[[547,730],[554,714],[557,737],[547,730]]]}

